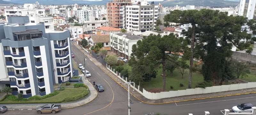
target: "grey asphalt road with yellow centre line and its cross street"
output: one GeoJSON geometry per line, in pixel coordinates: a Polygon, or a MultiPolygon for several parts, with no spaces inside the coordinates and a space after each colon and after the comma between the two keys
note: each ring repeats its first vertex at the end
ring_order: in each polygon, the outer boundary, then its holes
{"type": "MultiPolygon", "coordinates": [[[[75,55],[75,62],[83,64],[83,52],[72,45],[72,53],[75,55]]],[[[74,65],[76,66],[76,65],[74,65]]],[[[60,115],[127,115],[127,91],[113,81],[106,73],[99,69],[89,59],[86,60],[85,69],[91,72],[92,77],[88,80],[92,83],[101,84],[105,91],[99,92],[98,96],[84,106],[63,109],[56,114],[60,115]],[[113,91],[113,92],[112,92],[113,91]],[[114,95],[113,95],[114,94],[114,95]]],[[[131,97],[131,115],[146,115],[150,112],[161,112],[168,115],[204,115],[204,111],[209,111],[210,115],[222,115],[222,110],[231,109],[240,103],[252,103],[256,105],[256,94],[218,97],[204,100],[186,101],[179,103],[151,105],[144,104],[131,97]]],[[[5,115],[34,115],[35,110],[7,111],[5,115]]],[[[51,113],[44,113],[50,115],[51,113]]]]}

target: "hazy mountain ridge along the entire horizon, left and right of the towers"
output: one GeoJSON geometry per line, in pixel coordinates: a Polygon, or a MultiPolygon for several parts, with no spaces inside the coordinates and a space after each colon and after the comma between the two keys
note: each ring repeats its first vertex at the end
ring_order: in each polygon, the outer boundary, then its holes
{"type": "MultiPolygon", "coordinates": [[[[2,0],[0,0],[2,1],[2,0]]],[[[12,3],[36,3],[43,5],[64,5],[64,4],[84,4],[84,5],[106,5],[108,0],[102,1],[84,1],[84,0],[10,0],[8,2],[12,3]]],[[[153,0],[150,0],[153,1],[153,0]]],[[[6,2],[6,1],[3,1],[6,2]]],[[[186,6],[186,5],[195,5],[195,6],[210,6],[210,7],[228,7],[236,6],[239,4],[239,0],[164,0],[156,1],[155,4],[161,3],[164,6],[186,6]]],[[[0,3],[1,4],[1,3],[0,3]]]]}

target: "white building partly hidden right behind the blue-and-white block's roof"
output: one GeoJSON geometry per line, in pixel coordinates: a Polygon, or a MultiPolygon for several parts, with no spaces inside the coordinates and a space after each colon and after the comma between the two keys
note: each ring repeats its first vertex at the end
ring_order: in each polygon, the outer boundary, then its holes
{"type": "Polygon", "coordinates": [[[45,31],[54,31],[52,16],[30,16],[31,23],[44,23],[45,31]]]}

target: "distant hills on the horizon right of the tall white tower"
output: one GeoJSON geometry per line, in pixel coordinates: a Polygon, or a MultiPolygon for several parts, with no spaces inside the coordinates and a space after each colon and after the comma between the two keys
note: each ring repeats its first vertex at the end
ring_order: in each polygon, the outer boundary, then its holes
{"type": "Polygon", "coordinates": [[[195,5],[195,6],[210,6],[210,7],[228,7],[239,4],[240,1],[231,1],[231,0],[164,0],[160,2],[163,6],[186,6],[186,5],[195,5]]]}

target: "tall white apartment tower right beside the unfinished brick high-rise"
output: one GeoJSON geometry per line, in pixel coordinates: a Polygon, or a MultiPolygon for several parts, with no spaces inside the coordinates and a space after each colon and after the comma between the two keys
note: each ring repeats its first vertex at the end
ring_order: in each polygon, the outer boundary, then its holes
{"type": "Polygon", "coordinates": [[[123,6],[123,27],[127,32],[154,31],[158,19],[158,5],[153,2],[137,1],[132,5],[123,6]]]}

